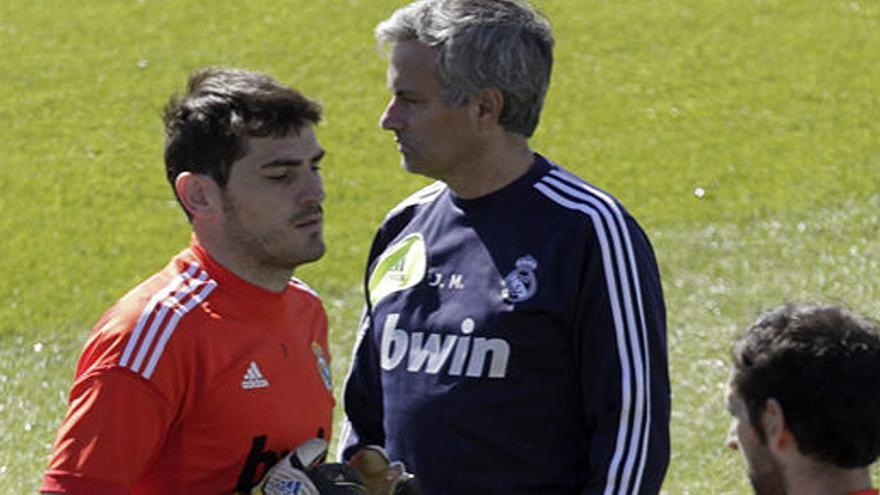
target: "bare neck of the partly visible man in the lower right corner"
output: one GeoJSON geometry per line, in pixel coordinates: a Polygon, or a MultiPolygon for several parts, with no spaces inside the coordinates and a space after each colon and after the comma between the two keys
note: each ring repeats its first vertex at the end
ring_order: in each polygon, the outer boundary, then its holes
{"type": "Polygon", "coordinates": [[[842,469],[808,461],[808,464],[786,471],[786,493],[846,495],[871,488],[871,475],[867,468],[842,469]]]}

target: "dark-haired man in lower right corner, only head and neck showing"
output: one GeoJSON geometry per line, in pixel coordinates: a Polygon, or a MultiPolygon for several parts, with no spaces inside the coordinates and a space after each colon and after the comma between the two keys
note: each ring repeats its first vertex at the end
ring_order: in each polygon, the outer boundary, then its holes
{"type": "Polygon", "coordinates": [[[727,444],[756,495],[878,495],[880,329],[835,306],[784,305],[733,347],[727,444]]]}

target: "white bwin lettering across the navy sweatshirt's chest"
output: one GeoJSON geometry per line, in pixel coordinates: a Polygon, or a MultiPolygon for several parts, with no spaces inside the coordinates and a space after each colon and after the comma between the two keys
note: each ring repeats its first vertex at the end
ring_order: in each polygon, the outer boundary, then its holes
{"type": "Polygon", "coordinates": [[[451,376],[481,377],[486,368],[486,357],[489,361],[489,378],[507,376],[507,360],[510,357],[510,344],[504,339],[487,339],[470,337],[474,331],[474,320],[466,318],[461,322],[461,331],[465,335],[425,334],[424,332],[408,333],[395,328],[400,315],[392,313],[385,318],[382,327],[381,357],[382,368],[393,370],[404,360],[406,370],[436,375],[449,362],[448,373],[451,376]],[[467,366],[465,366],[467,365],[467,366]]]}

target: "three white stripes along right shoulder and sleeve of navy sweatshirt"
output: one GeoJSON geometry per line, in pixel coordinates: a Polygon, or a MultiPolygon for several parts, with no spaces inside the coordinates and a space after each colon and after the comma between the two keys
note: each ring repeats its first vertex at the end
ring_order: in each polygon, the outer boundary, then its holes
{"type": "Polygon", "coordinates": [[[651,377],[641,282],[626,220],[609,194],[564,169],[554,168],[534,187],[593,221],[621,368],[621,414],[604,494],[638,492],[650,436],[651,377]]]}

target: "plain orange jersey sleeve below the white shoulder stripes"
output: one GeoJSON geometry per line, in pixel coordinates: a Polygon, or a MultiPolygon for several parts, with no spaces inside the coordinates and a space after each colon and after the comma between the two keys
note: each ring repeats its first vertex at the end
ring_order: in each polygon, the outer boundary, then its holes
{"type": "Polygon", "coordinates": [[[92,370],[70,393],[42,492],[128,494],[157,455],[172,421],[154,386],[118,368],[92,370]]]}

